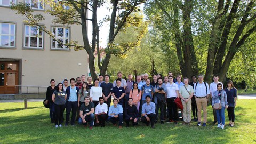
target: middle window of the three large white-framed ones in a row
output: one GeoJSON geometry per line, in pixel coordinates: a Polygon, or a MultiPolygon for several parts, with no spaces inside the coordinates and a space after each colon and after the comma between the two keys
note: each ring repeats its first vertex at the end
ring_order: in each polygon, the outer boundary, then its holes
{"type": "Polygon", "coordinates": [[[37,26],[25,25],[25,48],[43,48],[43,30],[37,26]]]}

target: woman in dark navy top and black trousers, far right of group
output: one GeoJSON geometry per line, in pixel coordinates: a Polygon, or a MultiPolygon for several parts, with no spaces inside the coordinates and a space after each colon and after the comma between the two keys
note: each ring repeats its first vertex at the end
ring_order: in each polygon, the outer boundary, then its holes
{"type": "Polygon", "coordinates": [[[235,122],[235,107],[236,107],[236,99],[237,99],[237,93],[236,88],[233,85],[233,82],[229,80],[227,82],[227,87],[225,89],[225,92],[227,93],[227,99],[228,99],[228,119],[229,119],[229,125],[231,127],[234,126],[235,122]]]}

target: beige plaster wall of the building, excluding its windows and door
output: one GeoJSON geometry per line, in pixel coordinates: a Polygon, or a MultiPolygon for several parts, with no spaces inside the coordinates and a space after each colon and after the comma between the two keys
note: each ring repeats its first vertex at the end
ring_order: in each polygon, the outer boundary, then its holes
{"type": "MultiPolygon", "coordinates": [[[[20,2],[20,1],[18,1],[20,2]]],[[[21,59],[21,78],[19,85],[49,86],[50,79],[55,79],[56,83],[63,78],[76,78],[82,74],[88,75],[87,53],[85,50],[57,51],[50,50],[50,37],[44,33],[44,50],[23,49],[24,18],[22,15],[15,14],[9,7],[0,7],[0,22],[16,23],[15,49],[0,48],[0,60],[21,59]],[[81,63],[81,65],[78,65],[81,63]]],[[[42,13],[43,11],[35,11],[42,13]]],[[[48,30],[54,25],[51,23],[52,17],[47,15],[42,23],[48,30]]],[[[71,40],[78,41],[83,45],[81,26],[73,25],[70,27],[71,40]]],[[[24,90],[22,90],[24,91],[24,90]]],[[[25,89],[25,92],[27,89],[25,89]]],[[[37,92],[38,89],[30,89],[37,92]]],[[[43,90],[44,91],[44,90],[43,90]]]]}

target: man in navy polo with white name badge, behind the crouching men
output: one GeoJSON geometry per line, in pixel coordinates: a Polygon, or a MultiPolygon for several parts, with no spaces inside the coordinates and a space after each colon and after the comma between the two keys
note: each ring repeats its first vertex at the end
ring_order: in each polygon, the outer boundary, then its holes
{"type": "Polygon", "coordinates": [[[124,107],[124,87],[121,86],[121,79],[116,79],[116,86],[113,87],[112,96],[114,99],[117,99],[118,104],[124,107]]]}

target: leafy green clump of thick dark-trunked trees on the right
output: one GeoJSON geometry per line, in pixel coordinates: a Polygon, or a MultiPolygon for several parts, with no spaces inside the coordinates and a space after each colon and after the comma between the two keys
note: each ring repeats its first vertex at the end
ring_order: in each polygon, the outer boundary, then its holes
{"type": "Polygon", "coordinates": [[[256,30],[255,9],[253,0],[151,0],[146,5],[149,19],[161,25],[157,30],[168,33],[166,41],[175,44],[182,75],[205,71],[207,82],[213,75],[225,78],[234,56],[256,30]],[[204,48],[207,63],[202,70],[203,57],[196,52],[204,48]]]}

